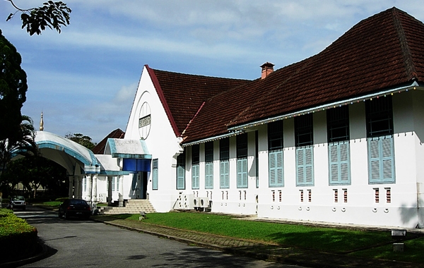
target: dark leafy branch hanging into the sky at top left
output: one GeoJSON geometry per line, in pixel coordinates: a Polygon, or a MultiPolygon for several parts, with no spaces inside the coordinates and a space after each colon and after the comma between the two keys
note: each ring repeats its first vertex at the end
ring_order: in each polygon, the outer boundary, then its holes
{"type": "Polygon", "coordinates": [[[54,2],[47,1],[43,3],[43,6],[37,8],[18,8],[12,0],[7,0],[11,5],[16,8],[15,13],[10,13],[6,21],[11,20],[16,13],[20,12],[20,19],[22,20],[22,28],[26,27],[27,32],[30,35],[40,35],[42,30],[47,27],[55,29],[57,32],[61,32],[61,26],[69,25],[69,14],[71,8],[66,6],[62,1],[54,2]]]}

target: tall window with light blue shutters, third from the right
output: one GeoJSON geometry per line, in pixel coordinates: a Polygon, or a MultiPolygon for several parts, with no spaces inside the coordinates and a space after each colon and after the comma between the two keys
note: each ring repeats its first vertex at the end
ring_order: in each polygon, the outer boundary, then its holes
{"type": "Polygon", "coordinates": [[[295,117],[296,185],[314,185],[312,114],[295,117]]]}

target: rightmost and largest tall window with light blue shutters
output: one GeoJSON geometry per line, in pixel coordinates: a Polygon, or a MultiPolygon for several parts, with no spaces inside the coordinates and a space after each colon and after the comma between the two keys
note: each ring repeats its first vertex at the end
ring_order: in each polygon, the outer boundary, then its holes
{"type": "Polygon", "coordinates": [[[391,96],[365,102],[368,182],[394,183],[393,111],[391,96]]]}

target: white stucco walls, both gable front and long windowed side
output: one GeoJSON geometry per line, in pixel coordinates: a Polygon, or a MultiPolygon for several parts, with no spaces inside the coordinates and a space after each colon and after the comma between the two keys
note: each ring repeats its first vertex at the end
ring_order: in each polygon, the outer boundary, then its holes
{"type": "MultiPolygon", "coordinates": [[[[424,226],[424,92],[409,91],[393,96],[394,112],[394,164],[396,182],[370,184],[368,182],[367,135],[365,103],[349,104],[351,183],[329,185],[329,157],[326,142],[326,112],[314,113],[314,185],[296,186],[294,119],[283,121],[284,129],[284,186],[269,188],[268,136],[266,125],[247,130],[248,135],[248,187],[237,188],[236,138],[230,137],[230,188],[220,188],[219,140],[213,142],[213,189],[205,189],[204,144],[200,145],[199,189],[192,189],[191,147],[186,147],[185,189],[177,190],[176,157],[182,152],[179,140],[155,92],[151,78],[143,70],[134,105],[126,128],[125,138],[137,139],[141,105],[151,107],[151,130],[146,144],[153,159],[158,159],[158,190],[152,190],[151,174],[148,194],[158,212],[167,212],[177,202],[179,194],[205,197],[212,201],[212,212],[257,214],[258,217],[328,221],[343,224],[376,226],[424,226]],[[256,132],[257,130],[257,132],[256,132]],[[255,152],[255,135],[258,135],[258,158],[255,152]],[[256,161],[259,165],[257,188],[256,161]],[[379,189],[379,202],[375,189],[379,189]],[[391,202],[387,202],[387,189],[391,202]],[[334,190],[338,202],[334,202],[334,190]],[[343,193],[347,190],[347,202],[343,193]],[[300,192],[303,191],[303,202],[300,192]],[[311,191],[312,200],[308,193],[311,191]],[[275,193],[275,200],[272,200],[275,193]],[[281,193],[281,200],[280,200],[281,193]],[[418,195],[417,195],[418,193],[418,195]],[[418,205],[417,205],[418,204],[418,205]]],[[[124,178],[124,193],[131,189],[131,177],[124,178]]],[[[129,195],[124,195],[128,198],[129,195]]]]}

